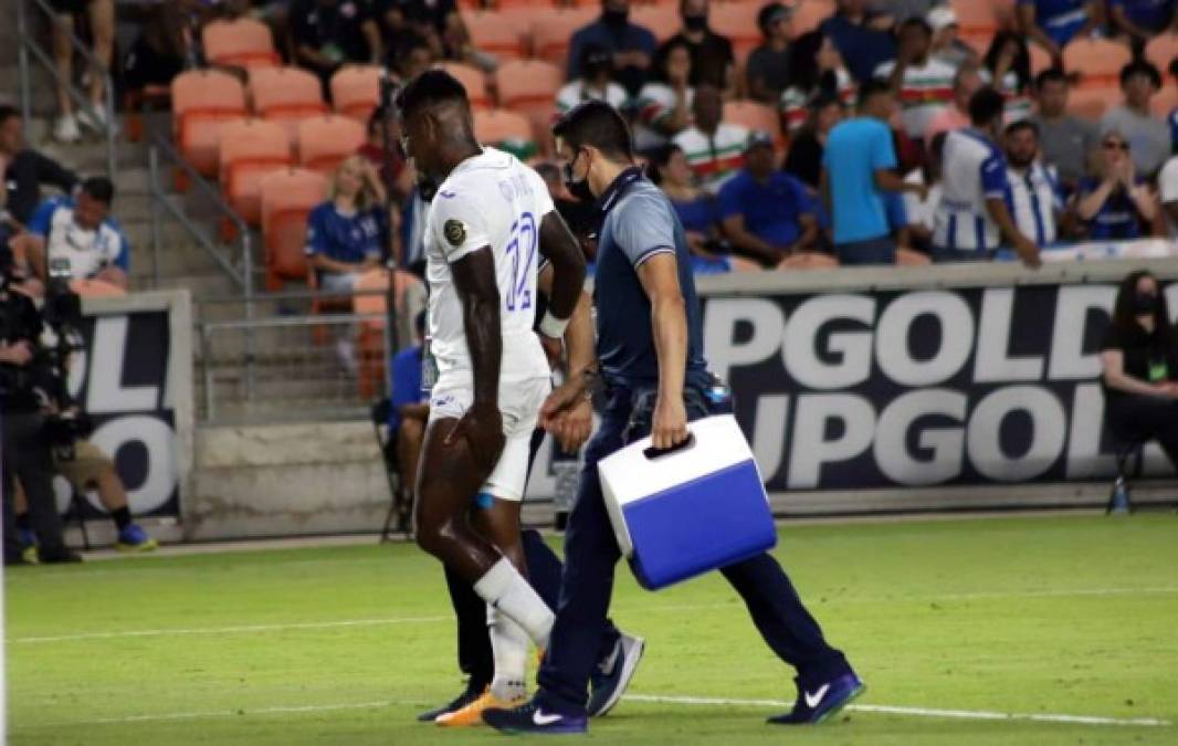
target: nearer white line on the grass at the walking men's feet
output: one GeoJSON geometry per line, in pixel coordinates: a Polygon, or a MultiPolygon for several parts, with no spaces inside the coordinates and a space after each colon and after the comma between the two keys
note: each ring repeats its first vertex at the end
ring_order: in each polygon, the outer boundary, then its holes
{"type": "MultiPolygon", "coordinates": [[[[660,694],[627,694],[622,699],[631,702],[654,702],[667,705],[699,706],[741,706],[741,707],[789,707],[790,702],[772,699],[720,699],[710,697],[671,697],[660,694]]],[[[278,706],[259,707],[257,709],[223,709],[205,712],[172,712],[151,715],[125,715],[121,718],[98,718],[95,720],[82,721],[58,721],[45,724],[46,726],[65,725],[119,725],[128,722],[152,722],[167,720],[198,720],[205,718],[232,718],[240,715],[272,715],[290,713],[317,713],[332,712],[338,709],[376,709],[380,707],[392,707],[396,705],[424,705],[424,702],[405,700],[385,700],[377,702],[355,702],[343,705],[302,705],[302,706],[278,706]]],[[[954,720],[1030,720],[1034,722],[1053,722],[1063,725],[1090,725],[1090,726],[1140,726],[1140,727],[1167,727],[1172,725],[1169,720],[1158,718],[1104,718],[1097,715],[1068,715],[1057,713],[1008,713],[991,712],[985,709],[934,709],[928,707],[893,707],[888,705],[851,705],[848,711],[860,713],[879,713],[889,715],[901,715],[908,718],[940,718],[954,720]]]]}

